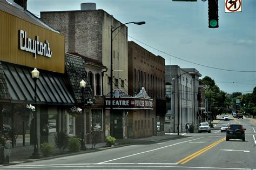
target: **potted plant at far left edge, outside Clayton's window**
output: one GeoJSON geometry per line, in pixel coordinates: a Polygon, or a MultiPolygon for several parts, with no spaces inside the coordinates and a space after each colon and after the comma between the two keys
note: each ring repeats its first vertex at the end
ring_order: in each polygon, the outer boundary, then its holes
{"type": "Polygon", "coordinates": [[[8,164],[11,155],[11,149],[6,147],[4,136],[0,138],[0,164],[8,164]]]}

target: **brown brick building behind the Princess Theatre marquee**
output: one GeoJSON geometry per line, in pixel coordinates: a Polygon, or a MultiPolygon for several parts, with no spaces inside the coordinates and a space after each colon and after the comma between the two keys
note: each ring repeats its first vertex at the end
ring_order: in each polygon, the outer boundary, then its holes
{"type": "Polygon", "coordinates": [[[142,46],[128,42],[129,95],[142,87],[153,99],[153,110],[130,111],[129,138],[157,135],[164,131],[165,117],[165,59],[153,55],[142,46]]]}

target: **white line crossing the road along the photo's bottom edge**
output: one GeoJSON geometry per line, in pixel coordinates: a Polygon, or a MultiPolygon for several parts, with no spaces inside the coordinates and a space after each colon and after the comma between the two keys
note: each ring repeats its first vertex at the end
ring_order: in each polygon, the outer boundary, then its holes
{"type": "MultiPolygon", "coordinates": [[[[164,167],[164,168],[189,168],[189,169],[245,169],[245,168],[221,168],[221,167],[193,167],[193,166],[171,166],[173,164],[160,164],[160,165],[154,165],[154,164],[149,164],[148,166],[146,165],[129,165],[129,164],[126,164],[126,163],[123,163],[123,164],[87,164],[87,165],[80,165],[78,166],[79,164],[74,164],[76,167],[152,167],[152,168],[157,168],[157,167],[164,167]]],[[[175,165],[175,164],[174,164],[175,165]]],[[[17,166],[17,165],[11,165],[11,166],[5,166],[5,169],[13,169],[13,168],[22,168],[22,169],[25,169],[25,168],[37,168],[38,166],[35,166],[33,165],[32,167],[31,166],[26,166],[26,165],[23,165],[23,166],[17,166]]],[[[40,168],[63,168],[63,167],[66,167],[66,168],[69,168],[69,167],[74,167],[72,165],[57,165],[57,166],[49,166],[49,165],[41,165],[40,168]]]]}

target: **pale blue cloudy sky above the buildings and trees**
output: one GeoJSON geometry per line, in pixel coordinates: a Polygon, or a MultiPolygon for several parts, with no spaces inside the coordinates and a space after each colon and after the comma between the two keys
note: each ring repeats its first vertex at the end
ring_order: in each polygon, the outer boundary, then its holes
{"type": "Polygon", "coordinates": [[[144,25],[127,25],[129,40],[164,57],[166,65],[195,68],[201,78],[210,76],[228,93],[252,91],[256,86],[256,1],[243,0],[242,12],[236,13],[225,13],[225,1],[219,0],[218,29],[208,28],[208,3],[201,0],[28,0],[28,10],[39,16],[40,11],[80,10],[80,3],[96,3],[97,9],[122,23],[145,21],[144,25]],[[171,56],[220,69],[254,72],[212,69],[171,56]]]}

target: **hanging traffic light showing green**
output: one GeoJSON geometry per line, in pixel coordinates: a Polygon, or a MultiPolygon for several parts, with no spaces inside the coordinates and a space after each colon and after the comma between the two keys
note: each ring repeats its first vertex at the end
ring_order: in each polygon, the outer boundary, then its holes
{"type": "Polygon", "coordinates": [[[219,28],[218,0],[208,0],[209,28],[219,28]]]}

